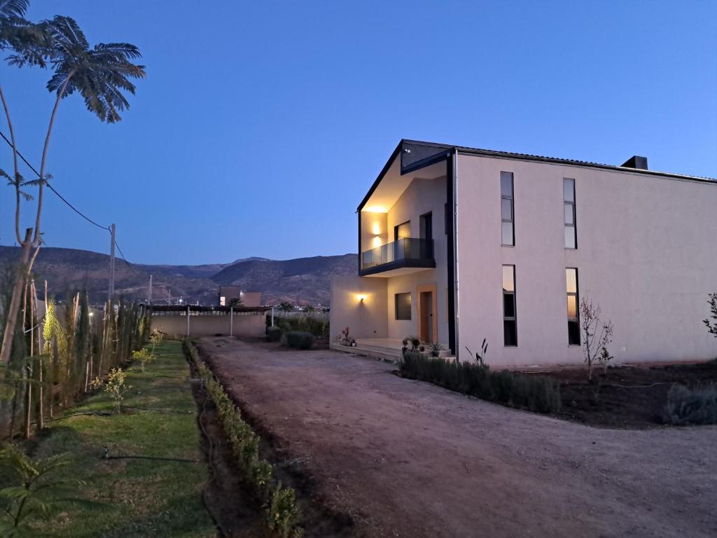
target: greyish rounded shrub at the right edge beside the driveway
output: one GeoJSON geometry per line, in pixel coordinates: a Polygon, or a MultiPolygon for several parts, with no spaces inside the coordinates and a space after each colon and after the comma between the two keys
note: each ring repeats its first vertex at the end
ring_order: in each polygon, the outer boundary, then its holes
{"type": "Polygon", "coordinates": [[[664,411],[665,422],[673,425],[717,424],[717,384],[689,389],[673,384],[664,411]]]}

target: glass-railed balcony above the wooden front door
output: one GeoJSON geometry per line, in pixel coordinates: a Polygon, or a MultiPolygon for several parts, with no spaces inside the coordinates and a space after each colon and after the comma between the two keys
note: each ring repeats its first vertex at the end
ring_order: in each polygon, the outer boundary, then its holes
{"type": "Polygon", "coordinates": [[[435,266],[432,239],[405,237],[361,253],[359,275],[375,275],[386,271],[398,275],[411,273],[410,269],[421,270],[435,266]]]}

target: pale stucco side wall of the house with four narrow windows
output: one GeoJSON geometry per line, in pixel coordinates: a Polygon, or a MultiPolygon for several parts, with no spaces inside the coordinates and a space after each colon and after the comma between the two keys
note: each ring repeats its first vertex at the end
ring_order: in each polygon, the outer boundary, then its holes
{"type": "MultiPolygon", "coordinates": [[[[615,362],[717,357],[702,321],[717,291],[717,184],[460,155],[459,346],[488,363],[582,364],[567,344],[565,268],[614,323],[615,362]],[[500,245],[500,171],[514,174],[516,246],[500,245]],[[563,178],[578,250],[564,249],[563,178]],[[516,265],[518,347],[503,346],[501,266],[516,265]]],[[[464,353],[464,357],[465,357],[464,353]]]]}

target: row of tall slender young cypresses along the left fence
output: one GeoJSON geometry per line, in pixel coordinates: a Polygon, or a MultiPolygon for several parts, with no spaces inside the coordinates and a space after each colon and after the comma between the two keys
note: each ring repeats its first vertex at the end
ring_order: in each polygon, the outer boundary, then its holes
{"type": "MultiPolygon", "coordinates": [[[[9,313],[15,271],[5,273],[0,311],[9,313]]],[[[147,341],[151,320],[144,307],[120,299],[104,311],[90,308],[86,292],[68,293],[57,306],[47,297],[41,310],[34,280],[24,290],[15,324],[9,364],[0,379],[0,424],[11,440],[17,430],[25,438],[42,430],[60,409],[67,409],[130,359],[147,341]]],[[[0,317],[0,326],[8,320],[0,317]]]]}

